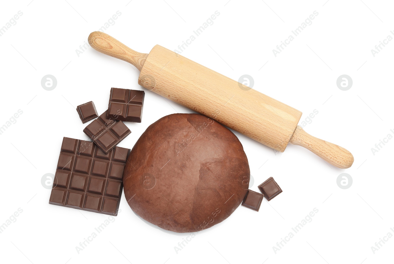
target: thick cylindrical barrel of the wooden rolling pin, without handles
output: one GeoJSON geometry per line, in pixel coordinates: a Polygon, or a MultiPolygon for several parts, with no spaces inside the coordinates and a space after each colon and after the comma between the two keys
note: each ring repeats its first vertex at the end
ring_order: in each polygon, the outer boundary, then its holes
{"type": "Polygon", "coordinates": [[[138,83],[280,152],[302,114],[159,45],[145,60],[138,83]]]}

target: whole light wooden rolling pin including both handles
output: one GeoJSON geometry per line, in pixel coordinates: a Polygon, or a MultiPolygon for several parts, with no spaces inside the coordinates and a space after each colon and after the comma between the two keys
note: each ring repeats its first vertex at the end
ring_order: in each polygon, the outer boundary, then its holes
{"type": "Polygon", "coordinates": [[[353,164],[348,150],[310,136],[298,126],[300,111],[171,50],[156,45],[149,54],[139,53],[99,31],[92,32],[88,41],[95,50],[139,69],[139,85],[268,147],[283,152],[291,142],[342,169],[353,164]]]}

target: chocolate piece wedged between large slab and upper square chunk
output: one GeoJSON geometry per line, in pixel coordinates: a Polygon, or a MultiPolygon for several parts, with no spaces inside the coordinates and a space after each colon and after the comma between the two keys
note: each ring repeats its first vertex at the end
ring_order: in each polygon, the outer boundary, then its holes
{"type": "Polygon", "coordinates": [[[113,147],[126,138],[131,131],[123,122],[107,119],[106,111],[95,121],[87,125],[84,129],[84,133],[89,136],[102,151],[108,153],[113,147]]]}

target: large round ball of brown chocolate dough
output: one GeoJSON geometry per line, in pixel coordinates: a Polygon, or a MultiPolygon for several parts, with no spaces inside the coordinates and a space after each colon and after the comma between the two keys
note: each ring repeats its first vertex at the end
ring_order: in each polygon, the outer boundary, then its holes
{"type": "Polygon", "coordinates": [[[240,205],[250,170],[242,144],[200,114],[172,114],[150,125],[123,174],[126,201],[141,218],[174,232],[220,223],[240,205]]]}

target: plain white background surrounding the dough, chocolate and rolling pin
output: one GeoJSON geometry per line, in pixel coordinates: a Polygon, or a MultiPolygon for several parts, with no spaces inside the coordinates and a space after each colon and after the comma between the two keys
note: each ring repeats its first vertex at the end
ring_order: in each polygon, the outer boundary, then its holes
{"type": "MultiPolygon", "coordinates": [[[[394,30],[391,1],[326,0],[156,0],[3,1],[0,27],[23,15],[0,37],[2,106],[0,126],[23,113],[0,135],[2,191],[0,225],[22,213],[0,234],[2,262],[17,263],[388,263],[394,238],[373,253],[388,232],[394,235],[394,135],[392,118],[394,41],[372,56],[371,49],[394,30]],[[313,13],[318,16],[280,54],[272,50],[313,13]],[[93,100],[106,110],[110,87],[143,89],[138,70],[89,47],[77,56],[90,32],[120,11],[106,33],[139,52],[160,44],[171,50],[190,38],[215,11],[214,24],[189,45],[186,56],[234,80],[243,74],[254,89],[303,112],[318,114],[305,130],[351,151],[343,170],[289,144],[276,153],[239,133],[254,178],[252,190],[273,176],[283,193],[260,211],[240,206],[222,223],[197,234],[163,232],[136,216],[123,195],[121,212],[85,249],[76,246],[108,216],[49,205],[41,177],[55,173],[63,136],[88,139],[76,106],[93,100]],[[264,65],[264,67],[262,67],[264,65]],[[52,91],[41,87],[56,77],[52,91]],[[342,91],[336,79],[348,74],[342,91]],[[263,165],[264,164],[264,165],[263,165]],[[350,188],[336,184],[341,173],[350,188]],[[313,208],[318,213],[276,253],[273,246],[313,208]]],[[[207,80],[209,81],[209,80],[207,80]]],[[[191,113],[146,91],[142,123],[126,123],[132,134],[119,146],[132,148],[151,123],[171,113],[191,113]]],[[[293,232],[294,233],[294,232],[293,232]]]]}

